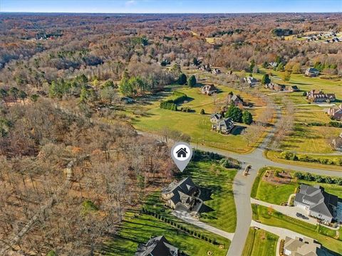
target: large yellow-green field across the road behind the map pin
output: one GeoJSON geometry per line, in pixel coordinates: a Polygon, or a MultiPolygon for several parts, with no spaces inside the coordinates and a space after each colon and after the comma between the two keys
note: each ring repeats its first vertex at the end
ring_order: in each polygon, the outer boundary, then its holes
{"type": "MultiPolygon", "coordinates": [[[[142,131],[158,132],[165,127],[170,129],[179,130],[182,133],[190,135],[192,142],[205,144],[207,146],[213,146],[219,149],[225,149],[228,151],[235,151],[239,153],[246,153],[252,149],[251,146],[247,146],[247,142],[243,139],[241,133],[245,124],[239,124],[239,127],[234,130],[233,134],[222,135],[211,130],[211,122],[209,121],[209,115],[215,110],[214,102],[222,102],[228,93],[233,91],[241,95],[244,100],[254,102],[256,106],[261,106],[259,99],[247,95],[246,93],[239,93],[227,86],[217,85],[220,92],[216,97],[210,97],[202,95],[199,91],[199,85],[197,87],[186,87],[175,85],[170,90],[178,90],[184,92],[189,98],[187,102],[184,102],[182,107],[190,107],[194,112],[180,112],[163,110],[159,107],[160,99],[169,99],[173,96],[171,92],[164,93],[162,97],[158,97],[154,102],[142,107],[145,111],[143,115],[136,115],[132,117],[132,124],[135,128],[142,131]],[[207,114],[199,114],[201,110],[204,110],[207,114]]],[[[262,108],[256,108],[250,110],[257,119],[259,113],[264,111],[262,108]]]]}

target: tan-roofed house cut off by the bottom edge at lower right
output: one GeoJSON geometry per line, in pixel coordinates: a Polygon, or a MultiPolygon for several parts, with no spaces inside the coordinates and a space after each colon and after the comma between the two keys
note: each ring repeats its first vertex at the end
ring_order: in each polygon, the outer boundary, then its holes
{"type": "Polygon", "coordinates": [[[333,256],[321,248],[321,244],[312,238],[289,238],[284,242],[284,255],[286,256],[333,256]]]}

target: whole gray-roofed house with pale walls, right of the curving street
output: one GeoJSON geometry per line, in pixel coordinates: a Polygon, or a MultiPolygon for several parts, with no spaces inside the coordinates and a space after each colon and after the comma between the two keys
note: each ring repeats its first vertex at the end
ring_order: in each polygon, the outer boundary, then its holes
{"type": "Polygon", "coordinates": [[[337,215],[338,197],[326,193],[320,186],[302,184],[294,198],[294,206],[304,208],[309,215],[323,223],[331,223],[337,215]]]}

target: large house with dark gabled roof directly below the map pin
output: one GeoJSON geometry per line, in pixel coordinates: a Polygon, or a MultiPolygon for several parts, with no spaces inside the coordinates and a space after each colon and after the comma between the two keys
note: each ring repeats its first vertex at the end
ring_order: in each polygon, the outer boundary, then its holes
{"type": "Polygon", "coordinates": [[[192,210],[197,202],[199,187],[195,185],[190,177],[183,178],[182,181],[173,181],[167,188],[162,189],[162,199],[166,206],[172,209],[192,210]]]}

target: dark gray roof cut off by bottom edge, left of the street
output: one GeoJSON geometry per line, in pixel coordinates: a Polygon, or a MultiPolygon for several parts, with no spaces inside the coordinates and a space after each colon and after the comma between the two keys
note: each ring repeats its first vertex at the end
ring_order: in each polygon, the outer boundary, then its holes
{"type": "Polygon", "coordinates": [[[145,244],[138,245],[135,256],[177,256],[178,248],[170,245],[163,235],[151,238],[145,244]]]}

